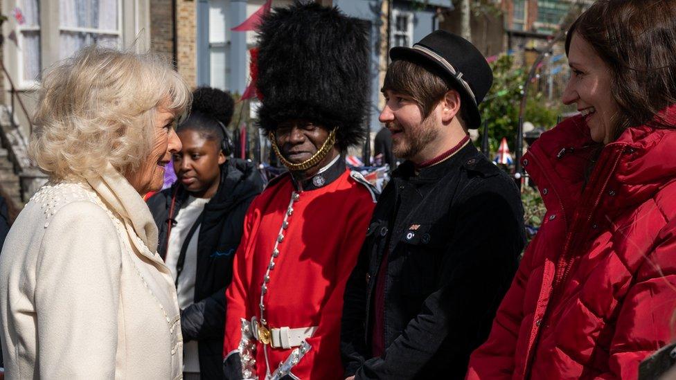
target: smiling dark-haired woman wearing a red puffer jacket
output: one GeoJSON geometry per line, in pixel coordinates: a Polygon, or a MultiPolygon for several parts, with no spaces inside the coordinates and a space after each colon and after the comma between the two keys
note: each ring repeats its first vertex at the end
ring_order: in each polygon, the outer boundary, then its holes
{"type": "Polygon", "coordinates": [[[547,213],[468,379],[636,379],[673,340],[676,0],[571,26],[565,120],[524,156],[547,213]]]}

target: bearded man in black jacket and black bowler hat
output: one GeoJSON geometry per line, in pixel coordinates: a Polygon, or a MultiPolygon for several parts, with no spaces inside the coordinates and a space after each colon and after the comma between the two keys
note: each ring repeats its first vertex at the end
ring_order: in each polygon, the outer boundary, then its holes
{"type": "Polygon", "coordinates": [[[463,379],[524,246],[515,183],[470,143],[486,59],[437,30],[395,47],[380,121],[406,159],[377,203],[345,293],[349,379],[463,379]]]}

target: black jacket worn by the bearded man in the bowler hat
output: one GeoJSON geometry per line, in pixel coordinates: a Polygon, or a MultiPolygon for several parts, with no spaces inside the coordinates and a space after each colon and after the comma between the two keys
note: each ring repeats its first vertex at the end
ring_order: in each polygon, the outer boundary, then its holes
{"type": "Polygon", "coordinates": [[[383,190],[344,297],[341,354],[357,379],[464,379],[524,247],[515,183],[466,145],[383,190]],[[385,251],[384,347],[371,358],[375,279],[385,251]]]}

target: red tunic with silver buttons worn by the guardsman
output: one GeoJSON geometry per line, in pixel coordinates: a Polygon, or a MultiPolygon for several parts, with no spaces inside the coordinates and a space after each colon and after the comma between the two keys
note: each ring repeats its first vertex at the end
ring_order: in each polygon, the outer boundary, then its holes
{"type": "Polygon", "coordinates": [[[287,372],[276,370],[287,361],[282,368],[299,379],[343,379],[339,354],[343,293],[375,206],[372,193],[355,177],[361,176],[346,170],[323,188],[296,193],[287,176],[251,203],[226,291],[224,341],[224,357],[239,354],[242,372],[247,368],[256,372],[251,377],[281,377],[287,372]],[[293,194],[298,194],[295,201],[293,194]],[[275,248],[278,253],[273,255],[275,248]],[[305,339],[309,348],[273,348],[246,330],[242,334],[242,320],[253,316],[263,318],[270,328],[318,328],[305,339]]]}

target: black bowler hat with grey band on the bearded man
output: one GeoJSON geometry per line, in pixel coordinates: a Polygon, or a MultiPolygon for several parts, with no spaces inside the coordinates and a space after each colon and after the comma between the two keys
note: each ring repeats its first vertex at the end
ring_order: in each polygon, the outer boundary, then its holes
{"type": "Polygon", "coordinates": [[[461,95],[468,118],[465,120],[467,127],[474,129],[481,125],[479,103],[493,83],[493,72],[486,57],[471,42],[445,30],[436,30],[414,44],[413,48],[391,48],[390,58],[434,68],[432,72],[444,75],[461,95]]]}

